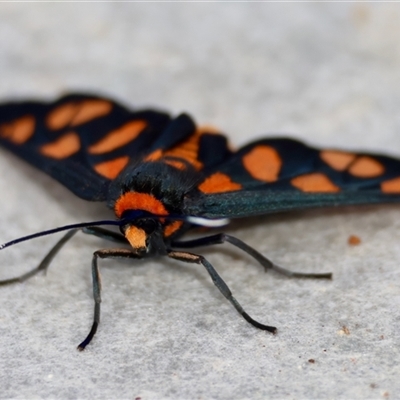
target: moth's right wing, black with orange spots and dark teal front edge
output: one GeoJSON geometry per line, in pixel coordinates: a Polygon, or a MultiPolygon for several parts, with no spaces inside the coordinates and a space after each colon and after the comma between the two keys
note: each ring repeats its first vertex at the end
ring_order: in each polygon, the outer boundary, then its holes
{"type": "Polygon", "coordinates": [[[207,171],[207,178],[187,196],[185,212],[239,218],[393,202],[400,202],[400,160],[271,138],[243,147],[207,171]]]}

